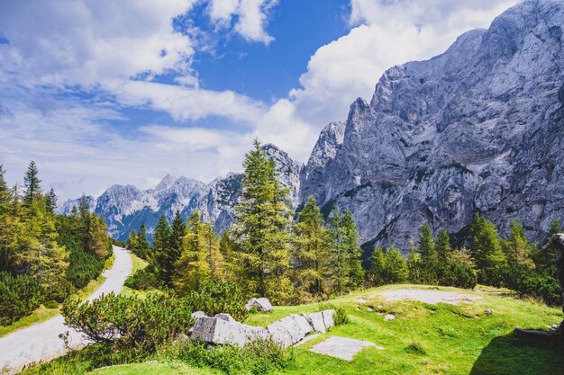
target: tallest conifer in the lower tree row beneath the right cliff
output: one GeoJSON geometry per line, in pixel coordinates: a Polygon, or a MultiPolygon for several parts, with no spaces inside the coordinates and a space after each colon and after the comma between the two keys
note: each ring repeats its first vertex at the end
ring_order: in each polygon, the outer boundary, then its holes
{"type": "Polygon", "coordinates": [[[499,267],[506,264],[499,235],[494,223],[475,215],[470,226],[471,253],[478,267],[480,282],[499,284],[499,267]]]}

